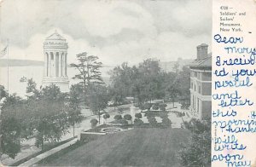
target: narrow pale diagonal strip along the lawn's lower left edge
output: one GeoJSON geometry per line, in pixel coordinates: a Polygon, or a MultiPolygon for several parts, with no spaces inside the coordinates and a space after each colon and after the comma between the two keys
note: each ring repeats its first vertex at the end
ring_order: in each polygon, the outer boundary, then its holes
{"type": "Polygon", "coordinates": [[[62,144],[59,147],[55,147],[55,148],[53,148],[53,149],[51,149],[51,150],[49,150],[47,152],[44,152],[44,153],[38,155],[35,158],[29,159],[28,161],[26,161],[23,164],[20,164],[19,166],[32,166],[33,164],[37,164],[40,160],[42,160],[44,158],[47,158],[50,155],[53,155],[54,153],[57,153],[57,152],[61,151],[62,149],[67,148],[67,147],[73,145],[76,141],[78,141],[77,138],[73,139],[72,141],[68,141],[67,143],[62,144]]]}

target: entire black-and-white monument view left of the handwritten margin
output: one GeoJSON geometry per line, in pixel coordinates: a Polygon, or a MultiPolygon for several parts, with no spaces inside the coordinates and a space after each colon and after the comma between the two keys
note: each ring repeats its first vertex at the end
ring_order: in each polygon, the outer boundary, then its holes
{"type": "Polygon", "coordinates": [[[0,166],[211,166],[212,0],[0,0],[0,166]]]}

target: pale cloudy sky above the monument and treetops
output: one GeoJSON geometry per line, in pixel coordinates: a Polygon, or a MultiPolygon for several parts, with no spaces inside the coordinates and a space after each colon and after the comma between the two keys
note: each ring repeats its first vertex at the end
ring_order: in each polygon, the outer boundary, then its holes
{"type": "MultiPolygon", "coordinates": [[[[0,0],[1,1],[1,0],[0,0]]],[[[43,43],[57,30],[76,55],[97,55],[106,66],[148,58],[195,59],[196,46],[211,51],[211,0],[2,0],[0,49],[9,58],[44,60],[43,43]]]]}

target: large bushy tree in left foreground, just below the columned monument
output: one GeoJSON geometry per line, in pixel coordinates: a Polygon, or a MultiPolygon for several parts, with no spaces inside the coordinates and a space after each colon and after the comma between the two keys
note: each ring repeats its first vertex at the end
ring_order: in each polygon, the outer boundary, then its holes
{"type": "Polygon", "coordinates": [[[34,135],[36,146],[44,149],[44,141],[60,141],[67,134],[68,121],[67,94],[62,94],[59,87],[50,85],[41,89],[37,98],[29,98],[13,112],[20,118],[23,137],[34,135]]]}

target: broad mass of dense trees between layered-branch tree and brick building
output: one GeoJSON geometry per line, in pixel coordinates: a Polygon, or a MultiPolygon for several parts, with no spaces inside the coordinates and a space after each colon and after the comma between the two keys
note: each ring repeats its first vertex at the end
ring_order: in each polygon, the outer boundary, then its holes
{"type": "MultiPolygon", "coordinates": [[[[176,67],[178,64],[176,65],[176,67]]],[[[189,98],[189,68],[175,72],[163,72],[159,60],[144,60],[138,66],[128,66],[125,62],[109,72],[111,75],[110,95],[115,103],[127,96],[137,98],[142,104],[154,99],[189,98]]]]}

